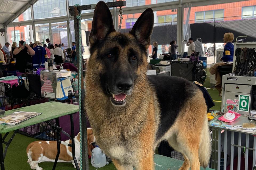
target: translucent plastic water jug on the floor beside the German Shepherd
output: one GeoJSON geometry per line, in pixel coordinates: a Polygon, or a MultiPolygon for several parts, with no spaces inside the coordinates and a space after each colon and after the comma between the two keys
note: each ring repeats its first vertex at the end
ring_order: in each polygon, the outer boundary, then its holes
{"type": "Polygon", "coordinates": [[[107,159],[106,155],[102,152],[101,148],[96,146],[91,151],[91,165],[93,165],[95,168],[104,167],[106,165],[107,159]]]}

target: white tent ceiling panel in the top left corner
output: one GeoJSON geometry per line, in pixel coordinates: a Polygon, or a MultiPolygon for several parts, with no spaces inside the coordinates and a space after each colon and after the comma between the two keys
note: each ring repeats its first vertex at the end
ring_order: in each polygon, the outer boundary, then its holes
{"type": "Polygon", "coordinates": [[[29,2],[30,0],[0,0],[0,23],[5,23],[17,15],[16,13],[29,2]]]}

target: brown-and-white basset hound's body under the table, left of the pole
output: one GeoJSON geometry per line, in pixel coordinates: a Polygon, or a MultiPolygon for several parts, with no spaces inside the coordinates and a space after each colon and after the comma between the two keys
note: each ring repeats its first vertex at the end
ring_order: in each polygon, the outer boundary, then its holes
{"type": "MultiPolygon", "coordinates": [[[[71,143],[71,140],[65,141],[71,143]]],[[[38,166],[41,162],[54,162],[57,155],[57,141],[35,141],[27,146],[27,163],[31,169],[42,170],[38,166]]],[[[80,165],[80,133],[75,137],[75,157],[80,165]]],[[[58,162],[72,162],[75,168],[75,163],[72,157],[72,148],[66,145],[60,145],[60,154],[58,162]]]]}

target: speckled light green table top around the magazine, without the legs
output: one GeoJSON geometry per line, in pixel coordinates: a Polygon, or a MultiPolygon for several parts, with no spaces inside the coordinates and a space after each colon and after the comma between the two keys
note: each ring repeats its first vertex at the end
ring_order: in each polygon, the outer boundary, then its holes
{"type": "Polygon", "coordinates": [[[13,112],[18,112],[18,111],[38,112],[42,114],[16,125],[0,124],[0,134],[21,129],[26,126],[34,125],[34,124],[51,120],[57,117],[65,116],[71,113],[76,113],[79,111],[79,106],[74,104],[66,104],[66,103],[61,103],[56,101],[50,101],[46,103],[40,103],[32,106],[26,106],[26,107],[6,111],[5,115],[0,116],[0,118],[3,116],[6,116],[7,114],[11,114],[13,112]]]}

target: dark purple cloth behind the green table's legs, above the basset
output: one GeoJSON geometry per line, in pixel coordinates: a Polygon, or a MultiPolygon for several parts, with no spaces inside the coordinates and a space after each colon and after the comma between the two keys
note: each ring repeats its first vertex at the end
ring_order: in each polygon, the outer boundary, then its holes
{"type": "MultiPolygon", "coordinates": [[[[79,103],[75,103],[75,105],[79,105],[79,103]]],[[[79,112],[73,114],[73,118],[74,118],[74,134],[76,136],[79,133],[79,112]]],[[[90,127],[88,119],[87,119],[86,125],[87,125],[87,128],[90,127]]],[[[63,129],[63,131],[65,131],[71,135],[70,116],[69,115],[62,116],[59,118],[59,126],[63,129]]],[[[65,134],[61,133],[61,141],[66,141],[68,139],[69,138],[65,134]]]]}

